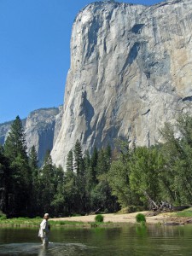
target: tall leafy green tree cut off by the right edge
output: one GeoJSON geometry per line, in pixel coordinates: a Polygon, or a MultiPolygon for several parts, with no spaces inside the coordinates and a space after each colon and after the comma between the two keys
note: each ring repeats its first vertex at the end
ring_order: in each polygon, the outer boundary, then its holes
{"type": "Polygon", "coordinates": [[[172,203],[188,204],[192,196],[192,118],[179,117],[175,125],[166,124],[161,134],[166,140],[162,146],[162,188],[172,203]]]}

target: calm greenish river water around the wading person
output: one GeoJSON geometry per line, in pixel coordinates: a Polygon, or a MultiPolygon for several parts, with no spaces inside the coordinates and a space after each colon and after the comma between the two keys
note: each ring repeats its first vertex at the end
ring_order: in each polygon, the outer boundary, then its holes
{"type": "Polygon", "coordinates": [[[192,255],[192,225],[126,225],[119,228],[51,229],[48,248],[36,229],[0,229],[0,255],[192,255]]]}

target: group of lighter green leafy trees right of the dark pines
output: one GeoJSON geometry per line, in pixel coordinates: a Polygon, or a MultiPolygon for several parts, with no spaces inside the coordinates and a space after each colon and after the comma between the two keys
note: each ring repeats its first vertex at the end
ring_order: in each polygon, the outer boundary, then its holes
{"type": "Polygon", "coordinates": [[[109,185],[121,207],[154,207],[163,201],[190,204],[192,196],[192,118],[183,115],[161,129],[164,144],[132,147],[118,143],[108,172],[109,185]]]}

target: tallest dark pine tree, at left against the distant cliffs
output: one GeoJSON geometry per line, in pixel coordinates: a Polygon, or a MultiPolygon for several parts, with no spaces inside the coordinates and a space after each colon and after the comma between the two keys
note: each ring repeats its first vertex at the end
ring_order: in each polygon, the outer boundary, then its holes
{"type": "Polygon", "coordinates": [[[9,159],[11,171],[9,211],[13,215],[23,215],[29,211],[32,174],[26,154],[26,135],[19,116],[16,117],[10,127],[9,135],[4,144],[4,152],[9,159]]]}

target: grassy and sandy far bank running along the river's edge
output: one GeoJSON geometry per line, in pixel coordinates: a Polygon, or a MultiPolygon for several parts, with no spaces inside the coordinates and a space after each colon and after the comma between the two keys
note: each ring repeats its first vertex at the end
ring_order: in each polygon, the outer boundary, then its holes
{"type": "MultiPolygon", "coordinates": [[[[138,224],[136,216],[138,213],[143,213],[146,218],[146,224],[161,224],[161,225],[183,225],[192,224],[191,213],[188,217],[181,217],[177,212],[163,212],[155,214],[155,212],[133,212],[133,213],[108,213],[102,214],[103,222],[96,222],[96,214],[76,217],[49,218],[52,227],[73,227],[73,228],[92,228],[92,227],[113,227],[122,226],[124,224],[138,224]]],[[[41,223],[42,218],[8,218],[0,220],[0,227],[13,228],[37,228],[41,223]]]]}

